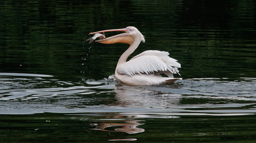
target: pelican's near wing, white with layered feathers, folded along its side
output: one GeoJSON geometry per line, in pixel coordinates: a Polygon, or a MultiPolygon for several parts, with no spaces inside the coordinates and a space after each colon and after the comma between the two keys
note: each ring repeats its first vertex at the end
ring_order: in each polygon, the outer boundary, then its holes
{"type": "Polygon", "coordinates": [[[142,75],[142,73],[149,74],[159,71],[178,73],[176,67],[166,64],[160,57],[155,55],[137,56],[117,67],[117,73],[129,76],[133,76],[136,73],[142,75]]]}

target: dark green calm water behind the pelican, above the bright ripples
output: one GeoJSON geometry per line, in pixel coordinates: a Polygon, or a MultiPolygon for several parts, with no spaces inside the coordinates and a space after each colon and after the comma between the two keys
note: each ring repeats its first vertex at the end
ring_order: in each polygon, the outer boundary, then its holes
{"type": "Polygon", "coordinates": [[[107,78],[128,45],[88,44],[88,33],[135,26],[146,43],[132,56],[168,51],[181,63],[182,78],[256,77],[253,0],[5,0],[0,5],[0,72],[107,78]]]}

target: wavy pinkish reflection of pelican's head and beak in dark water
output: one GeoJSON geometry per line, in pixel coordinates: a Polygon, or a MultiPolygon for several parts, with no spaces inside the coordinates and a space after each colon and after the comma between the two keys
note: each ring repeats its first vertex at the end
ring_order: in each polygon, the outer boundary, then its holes
{"type": "Polygon", "coordinates": [[[143,125],[141,123],[138,123],[143,120],[109,120],[104,121],[103,123],[95,123],[90,124],[91,129],[97,129],[101,131],[108,131],[108,132],[126,132],[128,134],[136,134],[144,132],[145,130],[143,128],[137,128],[138,125],[143,125]],[[120,123],[119,123],[120,122],[120,123]],[[109,127],[115,127],[114,130],[111,130],[112,128],[109,127]]]}

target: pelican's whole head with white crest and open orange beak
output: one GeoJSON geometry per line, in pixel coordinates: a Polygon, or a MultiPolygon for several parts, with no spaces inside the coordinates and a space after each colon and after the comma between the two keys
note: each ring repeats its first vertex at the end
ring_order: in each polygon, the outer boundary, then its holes
{"type": "Polygon", "coordinates": [[[104,32],[113,32],[113,31],[123,31],[126,33],[122,33],[119,35],[115,35],[112,37],[108,37],[106,39],[103,40],[98,40],[96,42],[99,43],[104,43],[104,44],[113,44],[113,43],[127,43],[127,44],[133,44],[134,41],[142,41],[143,43],[145,42],[145,38],[144,36],[141,34],[141,32],[139,32],[139,30],[135,27],[132,26],[128,26],[126,28],[123,29],[112,29],[112,30],[103,30],[103,31],[99,31],[99,32],[94,32],[94,33],[89,33],[90,34],[96,34],[96,33],[103,33],[104,32]]]}

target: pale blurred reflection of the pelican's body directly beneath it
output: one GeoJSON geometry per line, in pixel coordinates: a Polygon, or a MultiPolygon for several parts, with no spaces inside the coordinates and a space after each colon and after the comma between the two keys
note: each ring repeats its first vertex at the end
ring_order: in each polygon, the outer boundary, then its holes
{"type": "Polygon", "coordinates": [[[125,107],[151,107],[161,108],[176,105],[180,102],[182,95],[172,93],[163,93],[152,90],[152,86],[134,87],[134,86],[117,86],[115,93],[119,105],[125,107]],[[148,89],[146,89],[148,88],[148,89]]]}

